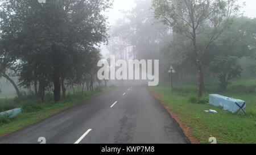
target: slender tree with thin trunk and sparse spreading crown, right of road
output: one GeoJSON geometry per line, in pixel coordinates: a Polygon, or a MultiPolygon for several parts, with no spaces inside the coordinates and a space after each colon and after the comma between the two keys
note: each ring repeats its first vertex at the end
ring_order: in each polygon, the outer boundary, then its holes
{"type": "Polygon", "coordinates": [[[196,57],[198,97],[203,95],[202,61],[210,44],[232,23],[237,14],[237,0],[153,0],[155,18],[169,26],[174,32],[188,37],[193,44],[196,57]],[[208,27],[209,31],[203,31],[208,27]],[[199,47],[199,37],[204,37],[199,47]]]}

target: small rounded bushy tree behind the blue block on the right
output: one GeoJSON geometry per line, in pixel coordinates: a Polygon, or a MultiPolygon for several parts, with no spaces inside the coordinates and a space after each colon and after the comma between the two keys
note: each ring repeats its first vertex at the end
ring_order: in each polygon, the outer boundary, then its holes
{"type": "Polygon", "coordinates": [[[217,56],[210,66],[218,76],[221,90],[226,90],[231,79],[241,77],[242,68],[238,65],[238,57],[217,56]]]}

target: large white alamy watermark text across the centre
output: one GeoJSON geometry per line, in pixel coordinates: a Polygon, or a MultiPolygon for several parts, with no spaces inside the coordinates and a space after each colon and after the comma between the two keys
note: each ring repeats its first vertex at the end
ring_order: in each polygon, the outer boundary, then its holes
{"type": "Polygon", "coordinates": [[[148,80],[148,86],[157,86],[159,83],[159,60],[117,60],[110,56],[110,64],[102,59],[98,62],[98,79],[103,80],[148,80]],[[154,70],[153,70],[154,65],[154,70]],[[128,70],[128,72],[127,72],[128,70]]]}

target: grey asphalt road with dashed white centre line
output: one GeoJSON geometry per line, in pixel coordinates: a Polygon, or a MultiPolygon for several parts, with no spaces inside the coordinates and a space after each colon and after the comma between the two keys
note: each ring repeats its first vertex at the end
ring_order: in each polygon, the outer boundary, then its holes
{"type": "Polygon", "coordinates": [[[34,144],[189,143],[179,125],[146,86],[121,87],[27,128],[0,143],[34,144]]]}

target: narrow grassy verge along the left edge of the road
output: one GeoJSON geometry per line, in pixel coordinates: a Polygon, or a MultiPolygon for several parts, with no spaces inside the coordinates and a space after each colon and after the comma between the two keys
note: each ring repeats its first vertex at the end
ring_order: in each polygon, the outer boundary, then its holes
{"type": "Polygon", "coordinates": [[[57,112],[76,106],[85,100],[92,99],[113,89],[114,88],[100,89],[94,92],[86,91],[83,94],[81,92],[76,94],[69,93],[66,99],[57,103],[51,101],[47,101],[46,103],[34,103],[34,100],[26,100],[26,102],[22,103],[23,108],[25,108],[24,112],[13,119],[5,119],[4,121],[2,119],[2,122],[0,118],[0,137],[39,122],[57,112]]]}

